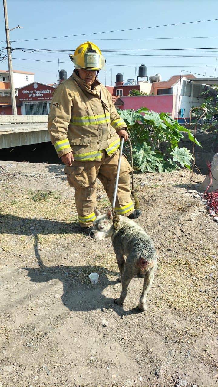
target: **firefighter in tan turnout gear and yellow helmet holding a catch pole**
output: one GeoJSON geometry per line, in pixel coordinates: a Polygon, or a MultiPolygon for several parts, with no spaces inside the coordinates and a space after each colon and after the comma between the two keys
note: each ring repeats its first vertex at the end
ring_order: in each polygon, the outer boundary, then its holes
{"type": "MultiPolygon", "coordinates": [[[[99,48],[85,42],[74,55],[73,74],[53,92],[48,130],[59,158],[66,165],[67,181],[75,189],[75,202],[81,228],[87,234],[95,220],[97,178],[112,204],[121,137],[126,141],[126,124],[117,113],[109,91],[97,75],[105,70],[99,48]]],[[[121,158],[115,211],[135,219],[142,214],[131,200],[131,166],[121,158]]]]}

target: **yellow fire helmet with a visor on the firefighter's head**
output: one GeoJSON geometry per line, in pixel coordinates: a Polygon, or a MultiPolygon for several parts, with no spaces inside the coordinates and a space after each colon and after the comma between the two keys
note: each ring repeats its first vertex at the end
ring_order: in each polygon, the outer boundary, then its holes
{"type": "Polygon", "coordinates": [[[101,55],[98,46],[92,42],[79,45],[74,55],[69,54],[76,68],[88,68],[89,70],[105,70],[105,58],[101,55]]]}

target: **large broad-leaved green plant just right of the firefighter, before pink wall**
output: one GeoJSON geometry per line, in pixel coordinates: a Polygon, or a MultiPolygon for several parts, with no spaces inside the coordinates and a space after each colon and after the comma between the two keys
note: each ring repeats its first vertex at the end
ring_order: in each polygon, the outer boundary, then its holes
{"type": "MultiPolygon", "coordinates": [[[[184,137],[181,131],[188,132],[191,141],[194,141],[194,136],[173,120],[170,114],[158,114],[145,107],[136,111],[118,110],[118,113],[128,128],[135,170],[164,172],[181,167],[190,169],[192,154],[185,147],[178,148],[178,143],[184,137]]],[[[201,146],[196,139],[195,142],[201,146]]],[[[125,143],[124,152],[130,159],[128,142],[125,143]]]]}

